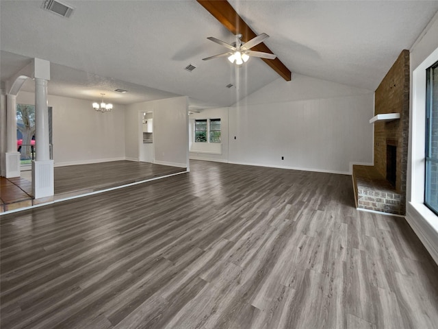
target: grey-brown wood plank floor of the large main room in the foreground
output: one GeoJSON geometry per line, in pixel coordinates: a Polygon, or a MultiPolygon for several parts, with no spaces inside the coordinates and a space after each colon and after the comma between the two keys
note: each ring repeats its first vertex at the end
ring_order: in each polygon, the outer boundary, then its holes
{"type": "Polygon", "coordinates": [[[1,328],[437,328],[437,265],[350,176],[190,166],[1,216],[1,328]]]}

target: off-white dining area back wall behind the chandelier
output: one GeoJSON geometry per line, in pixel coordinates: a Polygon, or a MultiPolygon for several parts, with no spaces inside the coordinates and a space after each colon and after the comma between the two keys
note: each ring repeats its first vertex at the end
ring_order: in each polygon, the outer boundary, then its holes
{"type": "MultiPolygon", "coordinates": [[[[125,159],[125,106],[96,112],[91,101],[49,95],[53,108],[55,166],[125,159]]],[[[35,103],[34,93],[20,91],[16,103],[35,103]]]]}

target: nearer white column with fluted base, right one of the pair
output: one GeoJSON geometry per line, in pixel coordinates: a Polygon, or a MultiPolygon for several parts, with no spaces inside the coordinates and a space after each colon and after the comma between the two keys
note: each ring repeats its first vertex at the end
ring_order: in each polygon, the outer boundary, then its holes
{"type": "Polygon", "coordinates": [[[54,192],[53,160],[49,147],[49,108],[47,80],[35,78],[35,153],[32,161],[32,193],[35,199],[51,197],[54,192]]]}

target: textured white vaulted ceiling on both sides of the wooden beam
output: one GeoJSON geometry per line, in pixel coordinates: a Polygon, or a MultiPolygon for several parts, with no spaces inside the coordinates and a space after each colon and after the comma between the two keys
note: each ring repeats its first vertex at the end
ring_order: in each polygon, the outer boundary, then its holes
{"type": "MultiPolygon", "coordinates": [[[[201,60],[226,50],[208,36],[233,35],[196,1],[64,2],[75,8],[69,19],[42,10],[42,0],[0,1],[2,81],[36,57],[52,63],[53,95],[105,93],[114,103],[188,95],[192,108],[203,108],[229,106],[279,78],[258,58],[240,69],[226,58],[201,60]]],[[[438,1],[230,3],[257,34],[270,35],[266,45],[292,75],[370,90],[438,10],[438,1]]]]}

